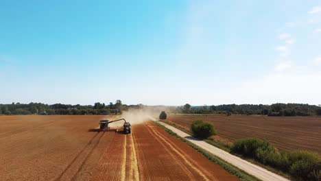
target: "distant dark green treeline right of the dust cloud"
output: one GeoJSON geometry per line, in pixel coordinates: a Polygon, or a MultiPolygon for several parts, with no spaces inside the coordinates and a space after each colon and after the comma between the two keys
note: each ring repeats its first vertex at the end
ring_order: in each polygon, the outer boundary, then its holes
{"type": "Polygon", "coordinates": [[[309,104],[224,104],[219,106],[191,106],[171,108],[173,113],[185,114],[262,114],[274,117],[321,115],[321,107],[309,104]]]}

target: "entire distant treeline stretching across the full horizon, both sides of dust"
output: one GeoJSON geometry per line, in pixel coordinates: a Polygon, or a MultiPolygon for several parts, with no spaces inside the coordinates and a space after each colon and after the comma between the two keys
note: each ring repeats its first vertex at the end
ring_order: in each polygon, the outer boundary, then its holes
{"type": "Polygon", "coordinates": [[[130,108],[157,108],[157,110],[166,110],[169,113],[184,113],[184,114],[261,114],[274,117],[294,117],[294,116],[313,116],[321,115],[321,107],[309,104],[224,104],[219,106],[144,106],[143,104],[126,105],[122,104],[121,100],[114,103],[104,104],[96,102],[94,105],[82,106],[80,104],[0,104],[0,114],[42,114],[42,115],[108,115],[121,114],[122,111],[130,108]]]}

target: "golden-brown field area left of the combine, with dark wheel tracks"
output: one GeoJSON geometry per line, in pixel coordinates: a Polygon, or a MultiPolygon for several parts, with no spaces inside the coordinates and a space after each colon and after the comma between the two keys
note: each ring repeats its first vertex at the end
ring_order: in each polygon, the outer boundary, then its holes
{"type": "Polygon", "coordinates": [[[102,116],[0,116],[0,180],[88,180],[115,135],[102,116]]]}

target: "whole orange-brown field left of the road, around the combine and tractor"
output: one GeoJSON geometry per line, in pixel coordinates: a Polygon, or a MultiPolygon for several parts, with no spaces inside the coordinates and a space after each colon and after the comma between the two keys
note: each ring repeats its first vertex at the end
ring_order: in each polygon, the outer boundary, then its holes
{"type": "Polygon", "coordinates": [[[152,121],[88,132],[102,118],[0,116],[0,180],[238,180],[152,121]]]}

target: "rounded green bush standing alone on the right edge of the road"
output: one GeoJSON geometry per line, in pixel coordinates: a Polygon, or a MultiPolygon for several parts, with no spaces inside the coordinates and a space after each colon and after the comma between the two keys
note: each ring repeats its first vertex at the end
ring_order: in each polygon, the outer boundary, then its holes
{"type": "Polygon", "coordinates": [[[191,124],[191,131],[194,136],[198,138],[209,138],[209,136],[215,135],[216,130],[211,123],[206,123],[202,120],[193,121],[191,124]]]}

